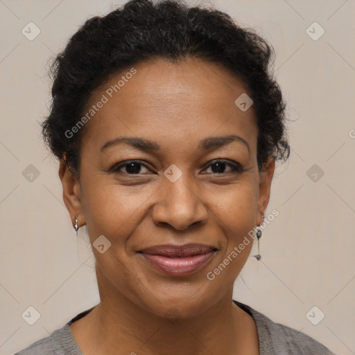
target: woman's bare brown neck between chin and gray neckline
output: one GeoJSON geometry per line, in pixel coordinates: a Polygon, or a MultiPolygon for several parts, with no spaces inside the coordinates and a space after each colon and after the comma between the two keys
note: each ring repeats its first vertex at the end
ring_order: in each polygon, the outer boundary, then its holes
{"type": "Polygon", "coordinates": [[[232,302],[232,288],[193,318],[178,318],[173,308],[171,318],[161,317],[112,288],[99,290],[101,303],[71,325],[85,355],[259,354],[254,320],[232,302]]]}

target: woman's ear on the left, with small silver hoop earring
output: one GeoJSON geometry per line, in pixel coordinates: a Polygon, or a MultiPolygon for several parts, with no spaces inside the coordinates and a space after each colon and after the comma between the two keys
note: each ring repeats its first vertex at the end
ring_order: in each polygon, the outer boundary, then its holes
{"type": "Polygon", "coordinates": [[[63,187],[63,200],[69,211],[71,224],[75,225],[75,218],[77,216],[78,227],[81,227],[85,225],[85,218],[80,200],[80,182],[73,173],[71,173],[64,159],[60,159],[58,171],[63,187]]]}

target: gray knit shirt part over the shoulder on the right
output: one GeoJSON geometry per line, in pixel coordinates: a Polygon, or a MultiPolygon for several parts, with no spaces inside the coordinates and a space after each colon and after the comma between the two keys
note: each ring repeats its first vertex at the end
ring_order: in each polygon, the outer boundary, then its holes
{"type": "Polygon", "coordinates": [[[244,311],[249,311],[257,324],[260,354],[265,355],[336,355],[327,347],[302,331],[270,320],[252,307],[234,301],[244,311]]]}

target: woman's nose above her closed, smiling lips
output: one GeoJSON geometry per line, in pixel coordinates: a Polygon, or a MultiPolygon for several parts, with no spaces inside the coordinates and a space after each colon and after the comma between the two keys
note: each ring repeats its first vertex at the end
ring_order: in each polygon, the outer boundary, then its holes
{"type": "Polygon", "coordinates": [[[162,182],[152,213],[156,225],[171,225],[175,230],[186,230],[190,225],[207,223],[208,209],[200,189],[183,177],[184,174],[175,182],[168,179],[162,182]]]}

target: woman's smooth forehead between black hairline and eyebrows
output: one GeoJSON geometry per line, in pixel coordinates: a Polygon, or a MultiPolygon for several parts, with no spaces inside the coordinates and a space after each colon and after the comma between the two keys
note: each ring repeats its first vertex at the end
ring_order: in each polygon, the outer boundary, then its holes
{"type": "Polygon", "coordinates": [[[85,112],[105,103],[85,124],[82,148],[99,149],[119,136],[149,137],[162,148],[182,141],[197,146],[201,138],[226,134],[256,143],[254,110],[243,112],[235,103],[245,93],[230,71],[196,58],[138,64],[112,75],[90,98],[85,112]]]}

